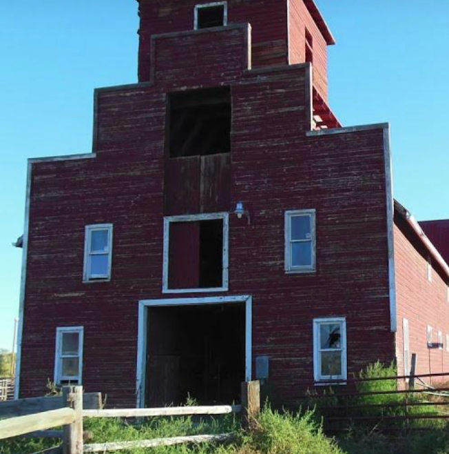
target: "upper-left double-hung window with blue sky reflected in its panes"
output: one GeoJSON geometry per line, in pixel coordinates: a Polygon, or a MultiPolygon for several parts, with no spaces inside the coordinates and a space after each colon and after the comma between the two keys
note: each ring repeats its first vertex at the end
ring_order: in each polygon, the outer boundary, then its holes
{"type": "Polygon", "coordinates": [[[85,228],[84,282],[108,281],[112,268],[112,224],[85,228]]]}

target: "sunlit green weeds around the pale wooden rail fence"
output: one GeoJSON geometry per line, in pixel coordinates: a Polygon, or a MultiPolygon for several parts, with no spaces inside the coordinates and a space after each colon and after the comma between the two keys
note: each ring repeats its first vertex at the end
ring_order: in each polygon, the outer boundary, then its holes
{"type": "MultiPolygon", "coordinates": [[[[231,444],[178,445],[121,451],[124,454],[344,454],[333,440],[324,435],[313,413],[278,413],[267,407],[262,411],[255,431],[245,433],[240,426],[238,418],[231,415],[218,419],[153,418],[143,424],[128,424],[113,419],[86,420],[85,430],[94,434],[94,440],[90,443],[151,440],[179,435],[236,434],[231,444]]],[[[0,452],[28,454],[57,444],[58,440],[18,437],[0,442],[0,452]]]]}

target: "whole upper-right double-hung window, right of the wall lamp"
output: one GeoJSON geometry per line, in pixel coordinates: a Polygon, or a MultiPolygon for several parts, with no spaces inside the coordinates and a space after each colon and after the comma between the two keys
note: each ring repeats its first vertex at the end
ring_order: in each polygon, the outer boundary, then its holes
{"type": "Polygon", "coordinates": [[[316,211],[285,213],[285,270],[313,273],[316,270],[316,211]]]}

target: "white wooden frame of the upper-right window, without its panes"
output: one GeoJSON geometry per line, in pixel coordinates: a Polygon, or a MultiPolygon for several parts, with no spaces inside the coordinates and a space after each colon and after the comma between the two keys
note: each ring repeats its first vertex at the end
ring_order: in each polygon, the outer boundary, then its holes
{"type": "Polygon", "coordinates": [[[316,224],[317,224],[317,211],[315,209],[309,210],[289,210],[285,212],[285,271],[286,273],[315,273],[316,272],[316,250],[317,250],[317,234],[316,234],[316,224]],[[300,216],[309,216],[311,219],[311,239],[306,240],[292,240],[291,239],[291,219],[293,217],[300,216]],[[292,266],[291,265],[291,246],[294,242],[308,242],[312,243],[312,264],[311,266],[292,266]]]}

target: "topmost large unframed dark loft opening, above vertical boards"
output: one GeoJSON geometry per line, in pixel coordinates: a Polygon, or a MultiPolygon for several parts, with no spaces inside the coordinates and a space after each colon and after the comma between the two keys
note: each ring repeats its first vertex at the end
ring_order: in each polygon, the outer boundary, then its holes
{"type": "Polygon", "coordinates": [[[167,102],[170,157],[231,151],[231,90],[207,88],[171,93],[167,102]]]}

